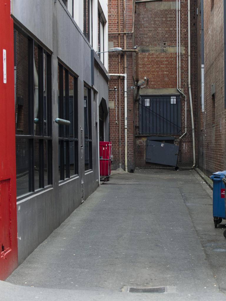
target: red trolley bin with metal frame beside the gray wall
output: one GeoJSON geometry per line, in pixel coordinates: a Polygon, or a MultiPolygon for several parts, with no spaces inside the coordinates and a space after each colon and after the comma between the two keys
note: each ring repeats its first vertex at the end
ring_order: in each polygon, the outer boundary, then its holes
{"type": "Polygon", "coordinates": [[[100,177],[104,177],[104,181],[109,181],[111,174],[111,142],[100,141],[100,177]]]}

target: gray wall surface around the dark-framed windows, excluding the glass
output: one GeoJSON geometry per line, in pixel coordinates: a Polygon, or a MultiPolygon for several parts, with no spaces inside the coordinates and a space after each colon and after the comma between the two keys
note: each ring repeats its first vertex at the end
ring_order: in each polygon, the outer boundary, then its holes
{"type": "MultiPolygon", "coordinates": [[[[61,0],[12,1],[14,23],[52,54],[52,119],[58,117],[58,62],[78,78],[78,158],[79,173],[59,184],[58,124],[52,123],[53,184],[48,189],[17,202],[19,263],[81,204],[81,181],[85,199],[98,187],[97,98],[91,87],[91,46],[61,0]],[[80,158],[80,127],[84,128],[84,82],[91,88],[93,170],[84,172],[80,158]]],[[[94,66],[94,88],[108,107],[108,78],[99,58],[94,66]]],[[[107,119],[108,120],[108,119],[107,119]]],[[[108,138],[108,124],[105,129],[108,138]]]]}

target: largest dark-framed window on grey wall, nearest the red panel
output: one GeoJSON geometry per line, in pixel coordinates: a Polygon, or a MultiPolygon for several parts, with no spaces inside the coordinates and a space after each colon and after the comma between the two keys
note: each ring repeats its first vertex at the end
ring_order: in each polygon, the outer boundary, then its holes
{"type": "Polygon", "coordinates": [[[51,55],[14,28],[17,197],[52,184],[51,55]]]}

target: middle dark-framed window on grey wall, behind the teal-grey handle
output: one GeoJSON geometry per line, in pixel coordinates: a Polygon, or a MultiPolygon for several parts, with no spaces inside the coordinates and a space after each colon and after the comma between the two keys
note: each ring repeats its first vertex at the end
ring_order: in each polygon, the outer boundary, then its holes
{"type": "Polygon", "coordinates": [[[77,78],[58,64],[58,116],[70,125],[59,124],[59,181],[78,174],[77,78]]]}

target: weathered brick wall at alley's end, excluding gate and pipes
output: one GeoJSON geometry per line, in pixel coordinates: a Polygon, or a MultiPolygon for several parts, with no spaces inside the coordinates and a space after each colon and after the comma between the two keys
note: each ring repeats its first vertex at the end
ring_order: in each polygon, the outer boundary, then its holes
{"type": "MultiPolygon", "coordinates": [[[[146,163],[146,136],[139,134],[139,97],[140,95],[175,95],[177,91],[177,22],[176,1],[154,1],[135,3],[134,32],[133,1],[120,3],[120,26],[118,27],[118,0],[109,0],[109,48],[121,47],[139,51],[139,79],[145,79],[144,85],[131,89],[135,79],[135,54],[127,53],[127,123],[128,123],[128,170],[136,167],[150,167],[146,163]],[[124,18],[123,18],[124,15],[124,18]],[[126,19],[126,27],[123,23],[126,19]],[[115,34],[112,34],[115,33],[115,34]],[[118,41],[120,36],[120,41],[118,41]],[[118,43],[120,42],[120,44],[118,43]],[[132,77],[133,76],[133,77],[132,77]],[[141,88],[143,87],[143,88],[141,88]]],[[[181,90],[187,95],[187,134],[185,132],[185,101],[181,96],[181,134],[174,135],[174,144],[179,145],[178,165],[192,166],[193,146],[188,91],[188,3],[180,1],[180,42],[181,42],[181,90]]],[[[196,0],[191,1],[191,90],[195,126],[197,123],[197,10],[196,0]]],[[[124,55],[109,53],[109,73],[125,73],[124,55]],[[120,69],[119,69],[120,64],[120,69]]],[[[119,80],[111,77],[109,89],[118,89],[119,80]]],[[[109,91],[110,103],[110,140],[112,141],[113,168],[121,161],[124,166],[124,79],[120,79],[121,92],[117,93],[117,119],[121,107],[121,160],[119,159],[119,120],[116,123],[115,91],[109,91]],[[119,95],[120,94],[120,95],[119,95]],[[121,104],[119,104],[121,102],[121,104]]],[[[151,134],[149,136],[152,136],[151,134]]],[[[197,142],[197,140],[196,140],[197,142]]],[[[196,143],[197,149],[197,143],[196,143]]]]}

